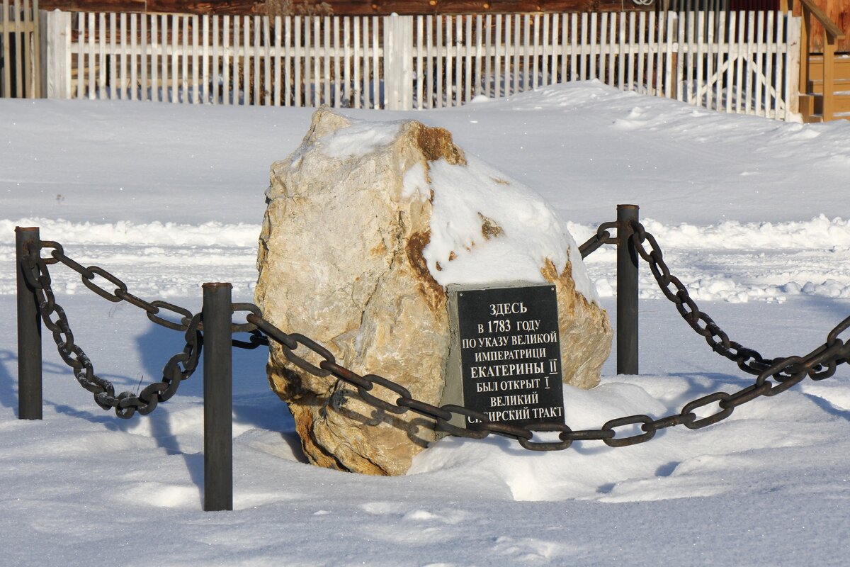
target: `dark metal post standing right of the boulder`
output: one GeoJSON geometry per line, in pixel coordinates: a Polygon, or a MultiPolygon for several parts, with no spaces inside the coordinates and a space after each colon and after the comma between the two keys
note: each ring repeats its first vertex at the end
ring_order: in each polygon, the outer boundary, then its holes
{"type": "Polygon", "coordinates": [[[638,251],[629,224],[637,205],[617,205],[617,374],[638,374],[638,251]]]}

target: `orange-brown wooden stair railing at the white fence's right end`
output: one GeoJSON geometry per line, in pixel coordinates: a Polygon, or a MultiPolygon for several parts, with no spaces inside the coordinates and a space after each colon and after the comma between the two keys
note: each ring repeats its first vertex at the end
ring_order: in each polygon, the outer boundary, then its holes
{"type": "MultiPolygon", "coordinates": [[[[787,0],[789,8],[791,0],[787,0]]],[[[824,81],[824,99],[821,111],[824,122],[832,120],[833,97],[835,96],[835,77],[836,77],[836,43],[839,39],[844,39],[844,32],[836,26],[836,23],[830,20],[830,17],[821,10],[813,0],[800,0],[800,8],[802,10],[802,30],[800,31],[800,93],[808,93],[808,82],[813,80],[811,77],[810,60],[812,54],[809,52],[809,35],[812,31],[813,18],[818,20],[824,33],[824,65],[822,68],[824,81]]]]}

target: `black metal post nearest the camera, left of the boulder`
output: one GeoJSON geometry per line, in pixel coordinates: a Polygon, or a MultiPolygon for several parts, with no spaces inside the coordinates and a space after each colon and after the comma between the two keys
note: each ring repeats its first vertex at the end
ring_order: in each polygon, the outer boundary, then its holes
{"type": "Polygon", "coordinates": [[[204,510],[233,509],[233,356],[229,283],[205,283],[204,510]]]}

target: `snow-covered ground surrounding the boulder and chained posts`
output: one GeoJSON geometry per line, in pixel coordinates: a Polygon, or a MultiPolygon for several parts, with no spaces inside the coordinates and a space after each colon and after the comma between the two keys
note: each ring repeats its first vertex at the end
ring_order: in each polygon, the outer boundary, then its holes
{"type": "MultiPolygon", "coordinates": [[[[576,241],[641,206],[694,298],[766,356],[806,354],[850,314],[850,123],[726,116],[571,83],[444,111],[350,111],[449,128],[467,153],[537,190],[576,241]]],[[[147,299],[197,310],[200,284],[252,299],[269,165],[305,109],[0,100],[0,541],[3,565],[846,564],[850,371],[643,445],[523,451],[443,439],[411,473],[302,462],[264,356],[235,353],[235,510],[201,511],[201,374],[149,417],[101,411],[45,336],[44,420],[17,411],[15,226],[147,299]]],[[[587,271],[612,320],[615,252],[587,271]]],[[[79,343],[116,389],[182,349],[127,303],[54,267],[79,343]]],[[[661,417],[752,377],[690,332],[642,270],[641,372],[565,388],[567,422],[661,417]]],[[[292,330],[297,331],[297,330],[292,330]]],[[[847,333],[845,333],[847,335],[847,333]]]]}

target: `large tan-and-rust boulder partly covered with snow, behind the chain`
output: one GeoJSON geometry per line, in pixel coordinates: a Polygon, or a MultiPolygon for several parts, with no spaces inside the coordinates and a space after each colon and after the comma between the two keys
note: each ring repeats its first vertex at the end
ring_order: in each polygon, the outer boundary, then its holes
{"type": "MultiPolygon", "coordinates": [[[[564,381],[598,383],[611,328],[575,241],[539,196],[466,156],[445,129],[322,108],[297,150],[272,165],[267,197],[256,301],[275,326],[325,344],[343,366],[439,405],[446,286],[551,282],[564,381]]],[[[317,465],[403,474],[434,438],[428,419],[375,409],[342,381],[293,366],[276,344],[269,382],[317,465]]]]}

